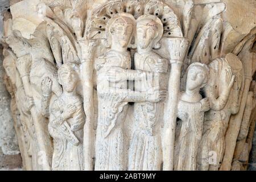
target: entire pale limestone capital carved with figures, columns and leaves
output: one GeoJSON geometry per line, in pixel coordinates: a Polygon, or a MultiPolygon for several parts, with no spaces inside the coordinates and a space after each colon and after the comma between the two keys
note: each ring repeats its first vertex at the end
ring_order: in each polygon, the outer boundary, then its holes
{"type": "Polygon", "coordinates": [[[230,9],[229,0],[14,3],[1,43],[23,169],[246,169],[255,13],[238,8],[242,21],[230,9]]]}

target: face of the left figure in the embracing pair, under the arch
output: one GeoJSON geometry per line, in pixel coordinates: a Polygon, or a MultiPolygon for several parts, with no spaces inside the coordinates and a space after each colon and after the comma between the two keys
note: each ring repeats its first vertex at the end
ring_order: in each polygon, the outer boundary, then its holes
{"type": "Polygon", "coordinates": [[[110,28],[112,44],[128,47],[133,34],[133,22],[130,18],[120,17],[115,20],[110,28]]]}

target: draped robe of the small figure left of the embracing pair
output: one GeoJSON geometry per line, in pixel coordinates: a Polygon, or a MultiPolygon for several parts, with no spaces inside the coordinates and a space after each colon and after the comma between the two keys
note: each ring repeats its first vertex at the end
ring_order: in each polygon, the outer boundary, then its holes
{"type": "Polygon", "coordinates": [[[49,134],[53,138],[52,169],[56,171],[83,170],[83,127],[85,114],[82,100],[79,96],[64,96],[62,94],[51,106],[49,134]],[[71,118],[59,125],[56,121],[60,113],[68,105],[77,107],[71,118]]]}

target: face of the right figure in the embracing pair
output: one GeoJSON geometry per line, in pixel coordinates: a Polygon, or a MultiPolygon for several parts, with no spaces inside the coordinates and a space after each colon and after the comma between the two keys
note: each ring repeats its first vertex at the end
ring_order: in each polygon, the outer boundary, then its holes
{"type": "Polygon", "coordinates": [[[147,48],[156,38],[157,24],[152,19],[143,19],[137,23],[138,46],[142,49],[147,48]]]}

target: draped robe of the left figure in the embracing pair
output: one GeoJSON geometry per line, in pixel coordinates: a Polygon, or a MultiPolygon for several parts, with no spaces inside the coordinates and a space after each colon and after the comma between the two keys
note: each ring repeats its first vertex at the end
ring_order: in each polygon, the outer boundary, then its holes
{"type": "Polygon", "coordinates": [[[129,52],[110,50],[99,57],[97,62],[102,62],[104,67],[97,72],[98,123],[95,170],[122,171],[126,169],[123,121],[128,109],[128,102],[124,101],[129,97],[127,81],[110,83],[105,79],[105,73],[111,67],[131,69],[131,56],[129,52]]]}

